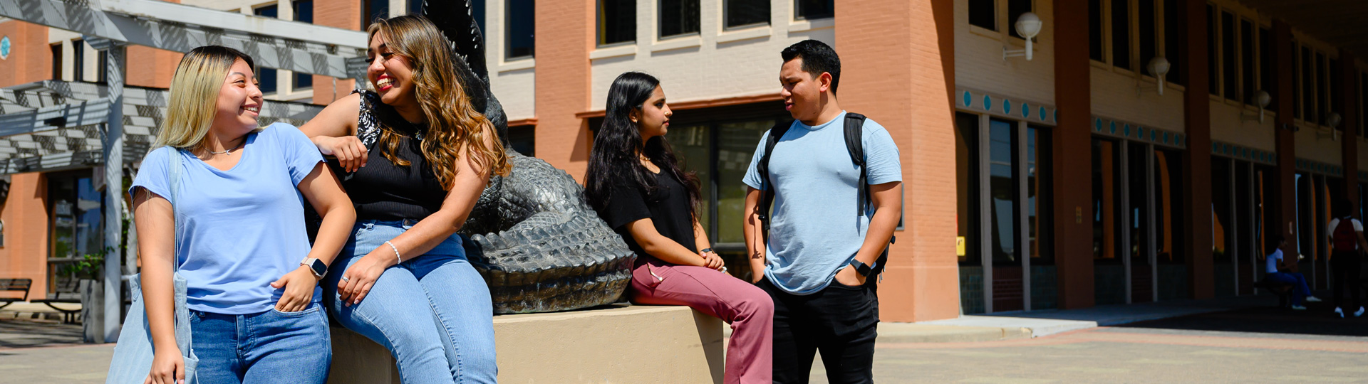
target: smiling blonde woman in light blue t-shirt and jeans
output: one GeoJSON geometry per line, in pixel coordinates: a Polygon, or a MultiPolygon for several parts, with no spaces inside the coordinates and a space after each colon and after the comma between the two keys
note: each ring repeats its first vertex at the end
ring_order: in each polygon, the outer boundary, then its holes
{"type": "Polygon", "coordinates": [[[257,126],[263,100],[254,70],[250,56],[231,48],[186,53],[171,78],[159,149],[133,180],[156,351],[145,383],[185,379],[172,262],[187,280],[198,383],[327,380],[332,348],[319,279],[356,212],[309,138],[289,124],[257,126]],[[312,247],[305,202],[323,216],[312,247]]]}

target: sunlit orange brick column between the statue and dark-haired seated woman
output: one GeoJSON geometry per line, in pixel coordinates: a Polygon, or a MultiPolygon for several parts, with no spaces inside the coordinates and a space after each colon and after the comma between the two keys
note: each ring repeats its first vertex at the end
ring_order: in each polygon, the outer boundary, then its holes
{"type": "MultiPolygon", "coordinates": [[[[536,157],[584,182],[590,146],[588,120],[595,46],[594,0],[536,0],[536,157]]],[[[648,38],[648,37],[640,37],[648,38]]]]}

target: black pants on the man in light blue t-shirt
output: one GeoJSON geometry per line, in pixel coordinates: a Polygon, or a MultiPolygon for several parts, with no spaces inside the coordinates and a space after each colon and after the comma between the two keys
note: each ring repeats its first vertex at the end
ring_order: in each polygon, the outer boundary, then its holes
{"type": "Polygon", "coordinates": [[[874,383],[876,279],[862,287],[832,282],[811,295],[785,292],[767,277],[759,282],[774,299],[776,384],[806,384],[817,351],[822,353],[828,383],[874,383]]]}

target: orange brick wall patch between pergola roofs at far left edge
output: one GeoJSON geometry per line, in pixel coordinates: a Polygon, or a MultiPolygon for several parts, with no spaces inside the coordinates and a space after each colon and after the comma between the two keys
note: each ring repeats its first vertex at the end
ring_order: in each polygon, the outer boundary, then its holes
{"type": "Polygon", "coordinates": [[[10,57],[0,60],[0,87],[30,83],[52,77],[48,27],[19,20],[0,23],[0,36],[10,37],[10,57]]]}

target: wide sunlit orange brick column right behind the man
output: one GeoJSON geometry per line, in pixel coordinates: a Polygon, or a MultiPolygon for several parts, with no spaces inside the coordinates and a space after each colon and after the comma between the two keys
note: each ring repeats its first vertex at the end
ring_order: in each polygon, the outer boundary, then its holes
{"type": "Polygon", "coordinates": [[[902,154],[906,230],[895,234],[880,284],[884,321],[959,316],[955,167],[945,163],[955,157],[952,10],[952,0],[836,7],[837,100],[884,124],[902,154]]]}

